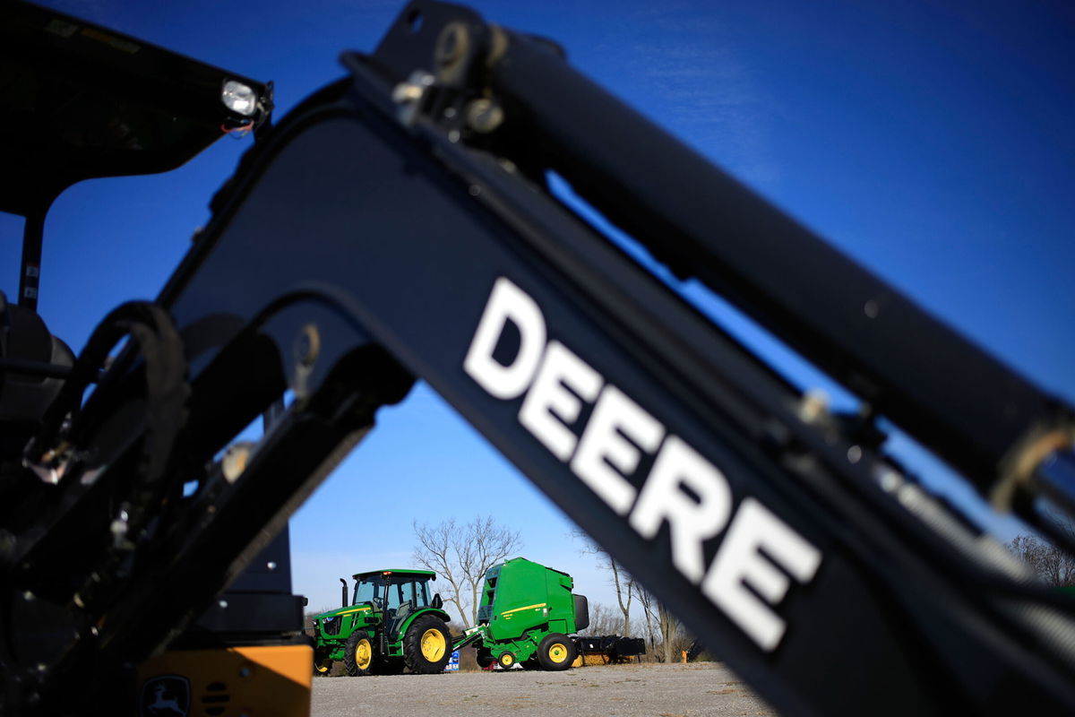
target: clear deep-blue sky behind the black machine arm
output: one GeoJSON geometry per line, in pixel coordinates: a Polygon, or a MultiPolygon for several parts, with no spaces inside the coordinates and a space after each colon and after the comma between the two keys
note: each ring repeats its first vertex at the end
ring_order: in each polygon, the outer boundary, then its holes
{"type": "MultiPolygon", "coordinates": [[[[46,2],[274,80],[278,114],[371,51],[400,2],[255,6],[46,2]]],[[[1063,2],[475,2],[572,63],[1045,388],[1075,402],[1075,11],[1063,2]]],[[[41,313],[76,350],[116,304],[156,296],[249,140],[167,175],[84,183],[46,226],[41,313]]],[[[0,288],[20,221],[0,215],[0,288]]],[[[782,364],[792,365],[780,359],[782,364]]],[[[797,371],[807,383],[808,373],[797,371]]],[[[988,390],[989,387],[983,387],[988,390]]],[[[926,462],[921,462],[927,470],[926,462]]],[[[425,387],[292,521],[295,587],[410,562],[411,520],[492,513],[524,554],[608,588],[571,526],[425,387]],[[387,503],[386,503],[387,501],[387,503]],[[363,504],[387,504],[385,518],[363,504]]]]}

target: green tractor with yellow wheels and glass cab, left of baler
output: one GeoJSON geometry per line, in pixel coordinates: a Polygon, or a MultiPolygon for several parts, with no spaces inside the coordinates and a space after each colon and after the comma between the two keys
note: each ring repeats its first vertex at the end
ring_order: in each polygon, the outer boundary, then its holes
{"type": "Polygon", "coordinates": [[[430,598],[436,574],[428,570],[376,570],[353,576],[347,601],[343,583],[339,610],[314,617],[314,670],[324,674],[342,660],[347,674],[444,672],[452,657],[448,614],[441,596],[430,598]]]}

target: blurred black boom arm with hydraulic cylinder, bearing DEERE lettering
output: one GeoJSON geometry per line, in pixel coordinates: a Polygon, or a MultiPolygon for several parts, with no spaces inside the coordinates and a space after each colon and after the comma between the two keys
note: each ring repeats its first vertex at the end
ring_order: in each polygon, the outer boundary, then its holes
{"type": "MultiPolygon", "coordinates": [[[[137,536],[116,589],[78,607],[66,602],[68,572],[89,561],[48,544],[81,535],[87,554],[113,549],[108,526],[87,532],[70,506],[138,485],[128,456],[145,424],[129,408],[142,401],[147,363],[130,352],[66,434],[94,448],[68,460],[68,475],[97,470],[96,482],[61,481],[48,533],[13,536],[5,557],[18,592],[9,614],[64,616],[77,635],[9,635],[18,645],[3,661],[24,680],[13,704],[37,694],[62,707],[64,691],[77,693],[59,689],[62,680],[108,685],[115,665],[167,644],[360,440],[377,407],[419,376],[777,708],[1001,715],[1032,696],[1037,714],[1075,709],[1070,599],[1027,584],[999,546],[875,445],[834,417],[804,416],[798,390],[553,197],[545,172],[565,176],[676,271],[726,292],[994,499],[1019,505],[1034,487],[1027,456],[1043,442],[1070,448],[1071,408],[594,87],[547,42],[414,2],[373,56],[344,61],[348,77],[244,158],[158,299],[190,367],[177,439],[187,460],[172,470],[198,475],[198,492],[137,536]],[[685,183],[699,191],[668,188],[685,183]],[[786,628],[775,644],[751,639],[677,568],[682,545],[666,521],[640,533],[520,424],[522,396],[496,398],[467,373],[501,279],[540,307],[549,340],[719,468],[734,515],[762,510],[816,549],[816,572],[754,556],[787,583],[763,600],[786,628]],[[285,388],[296,400],[244,471],[192,468],[285,388]],[[31,640],[48,644],[34,654],[42,673],[27,660],[31,640]]],[[[511,362],[511,346],[498,352],[511,362]]],[[[574,420],[560,417],[576,439],[593,411],[592,397],[582,403],[574,420]]],[[[639,453],[621,476],[634,489],[655,462],[639,453]]],[[[27,459],[43,463],[44,451],[27,459]]],[[[702,543],[705,565],[729,549],[720,528],[702,543]]],[[[757,584],[748,590],[761,600],[757,584]]]]}

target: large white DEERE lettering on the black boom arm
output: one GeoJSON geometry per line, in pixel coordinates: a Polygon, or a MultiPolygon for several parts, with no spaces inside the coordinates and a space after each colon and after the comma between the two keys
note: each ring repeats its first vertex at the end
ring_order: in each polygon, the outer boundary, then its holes
{"type": "Polygon", "coordinates": [[[776,613],[790,587],[814,578],[821,553],[754,498],[732,515],[732,492],[720,470],[664,427],[558,341],[549,341],[536,302],[505,277],[492,292],[471,341],[463,369],[490,396],[524,393],[519,422],[554,456],[570,463],[597,496],[651,540],[666,522],[672,562],[700,585],[761,648],[773,650],[786,630],[776,613]],[[508,363],[493,358],[508,322],[519,348],[508,363]],[[586,403],[594,403],[578,427],[586,403]],[[576,438],[578,431],[582,436],[576,438]],[[663,440],[663,443],[662,443],[663,440]],[[629,479],[644,455],[655,455],[641,488],[629,479]],[[731,522],[729,524],[729,519],[731,522]],[[705,543],[728,528],[706,569],[705,543]]]}

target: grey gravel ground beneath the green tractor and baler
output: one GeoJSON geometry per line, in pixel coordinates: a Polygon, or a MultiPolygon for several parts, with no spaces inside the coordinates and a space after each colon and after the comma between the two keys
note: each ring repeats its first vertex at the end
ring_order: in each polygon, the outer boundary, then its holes
{"type": "Polygon", "coordinates": [[[313,717],[375,712],[431,715],[608,715],[615,717],[773,717],[719,662],[627,664],[567,672],[459,672],[444,675],[317,677],[313,717]]]}

